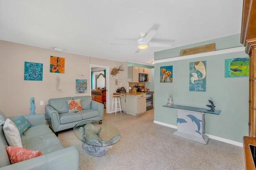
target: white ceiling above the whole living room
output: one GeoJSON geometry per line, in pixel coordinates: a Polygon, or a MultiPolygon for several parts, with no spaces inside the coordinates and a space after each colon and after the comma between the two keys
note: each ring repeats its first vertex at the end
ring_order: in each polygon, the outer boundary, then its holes
{"type": "MultiPolygon", "coordinates": [[[[174,47],[240,33],[243,0],[0,0],[0,40],[151,65],[139,32],[174,47]]],[[[173,48],[174,48],[173,47],[173,48]]],[[[61,57],[61,56],[58,56],[61,57]]]]}

